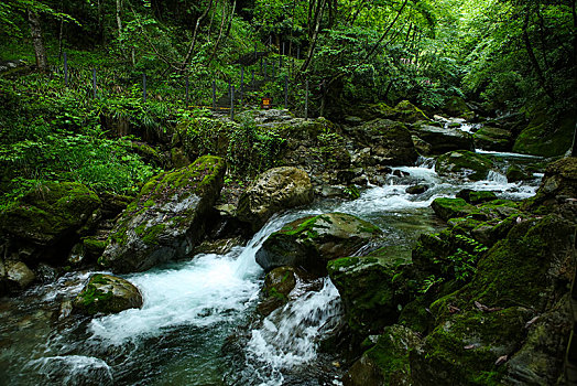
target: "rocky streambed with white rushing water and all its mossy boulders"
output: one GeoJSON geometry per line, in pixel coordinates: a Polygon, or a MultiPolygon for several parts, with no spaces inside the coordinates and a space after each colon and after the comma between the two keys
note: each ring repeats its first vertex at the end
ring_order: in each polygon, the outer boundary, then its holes
{"type": "Polygon", "coordinates": [[[542,174],[541,159],[473,151],[467,130],[411,106],[383,111],[333,137],[323,119],[288,118],[298,141],[283,162],[300,168],[262,173],[236,210],[216,202],[218,157],[155,176],[135,199],[73,183],[29,193],[0,218],[7,382],[557,379],[575,159],[542,174]]]}

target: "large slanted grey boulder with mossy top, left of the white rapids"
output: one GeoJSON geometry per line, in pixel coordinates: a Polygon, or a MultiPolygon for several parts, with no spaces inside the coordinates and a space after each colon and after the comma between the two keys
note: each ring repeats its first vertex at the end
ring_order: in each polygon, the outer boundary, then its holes
{"type": "Polygon", "coordinates": [[[99,262],[116,272],[146,270],[193,251],[222,186],[225,161],[205,156],[149,181],[110,233],[99,262]]]}

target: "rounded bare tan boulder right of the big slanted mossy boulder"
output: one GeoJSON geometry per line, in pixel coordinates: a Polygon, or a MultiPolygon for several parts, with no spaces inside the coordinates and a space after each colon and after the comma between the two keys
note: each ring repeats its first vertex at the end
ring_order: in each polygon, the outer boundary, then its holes
{"type": "Polygon", "coordinates": [[[239,199],[237,216],[260,229],[276,212],[314,199],[311,178],[297,168],[274,168],[260,174],[239,199]]]}

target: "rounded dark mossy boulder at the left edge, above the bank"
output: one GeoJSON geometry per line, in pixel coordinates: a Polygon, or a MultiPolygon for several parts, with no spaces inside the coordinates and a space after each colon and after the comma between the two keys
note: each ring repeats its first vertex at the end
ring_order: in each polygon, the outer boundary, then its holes
{"type": "Polygon", "coordinates": [[[48,182],[0,214],[0,235],[17,259],[37,264],[72,247],[99,218],[100,205],[83,184],[48,182]]]}

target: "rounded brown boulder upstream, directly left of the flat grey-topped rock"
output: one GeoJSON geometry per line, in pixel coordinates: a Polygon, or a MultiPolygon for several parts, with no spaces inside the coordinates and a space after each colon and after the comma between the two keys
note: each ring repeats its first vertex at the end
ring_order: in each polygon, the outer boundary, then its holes
{"type": "Polygon", "coordinates": [[[379,164],[412,165],[417,152],[409,129],[389,119],[374,119],[353,127],[350,132],[361,146],[371,149],[371,158],[379,164]]]}

